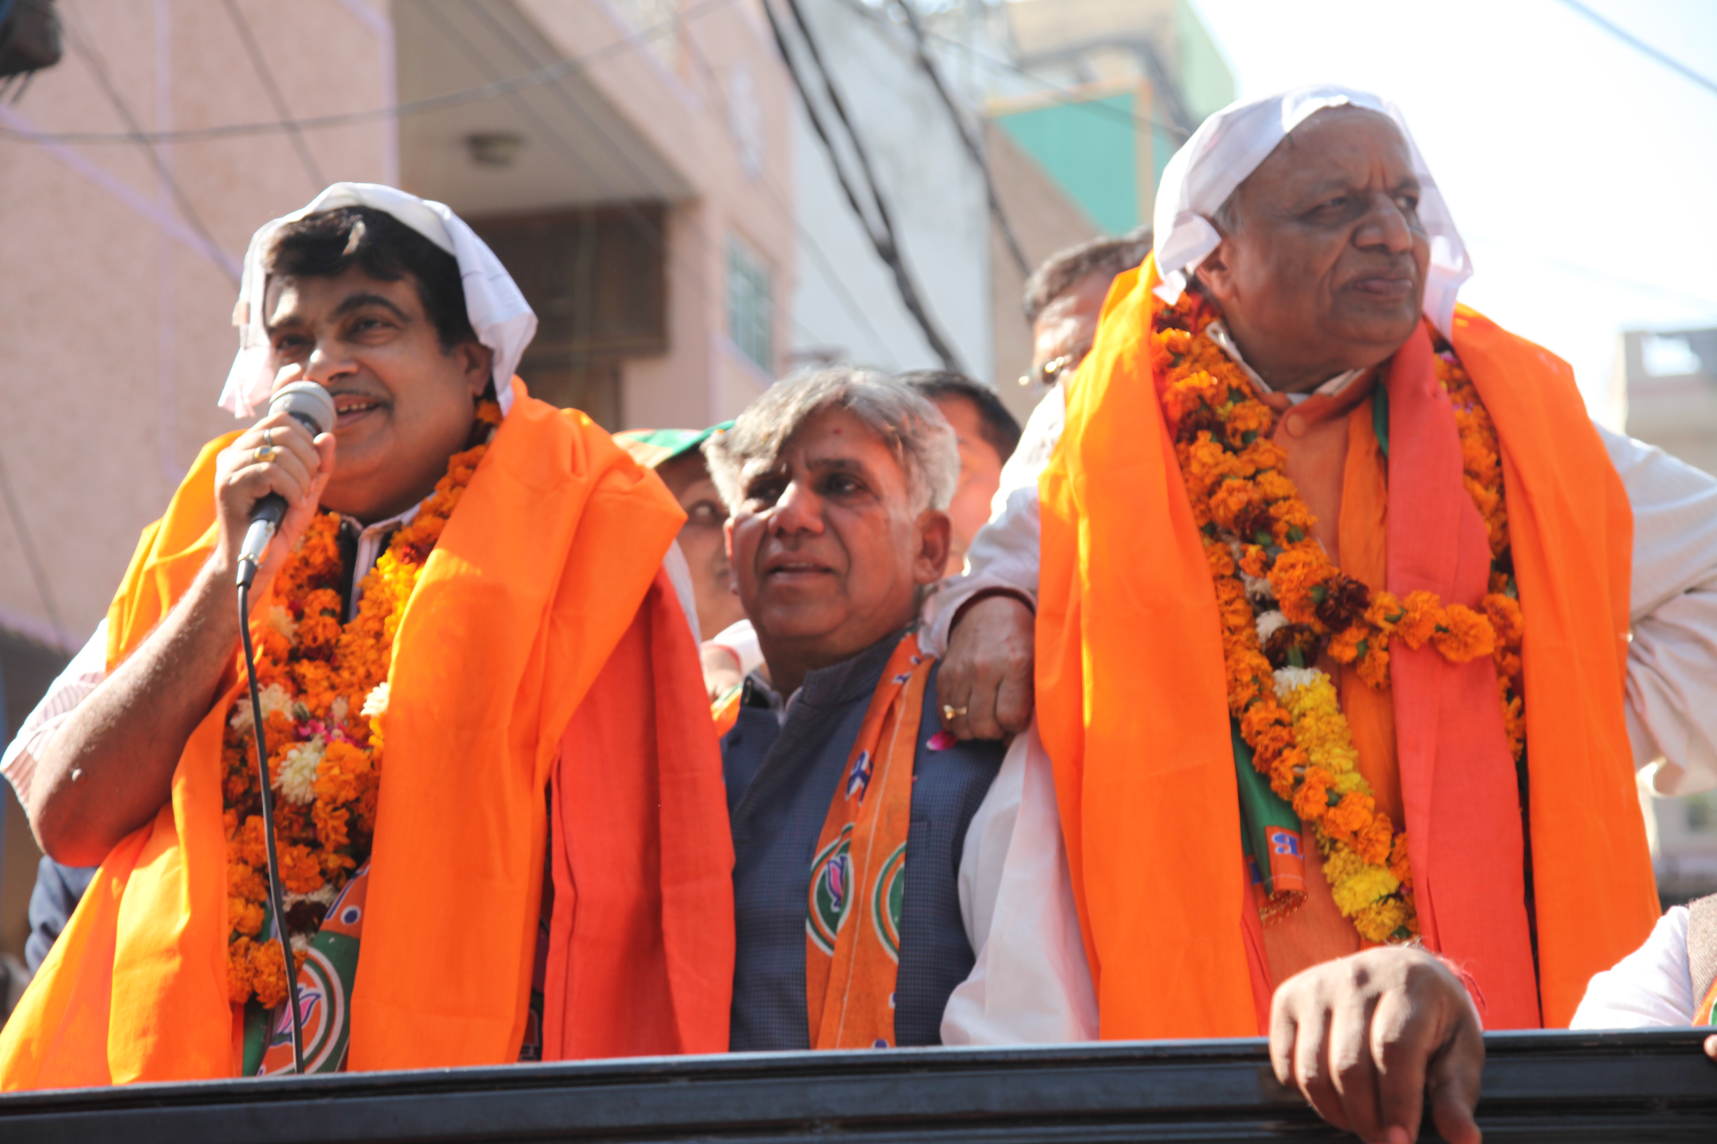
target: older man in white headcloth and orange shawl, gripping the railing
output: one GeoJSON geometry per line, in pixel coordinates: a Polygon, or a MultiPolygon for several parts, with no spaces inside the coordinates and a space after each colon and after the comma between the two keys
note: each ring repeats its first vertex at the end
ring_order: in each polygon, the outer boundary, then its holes
{"type": "MultiPolygon", "coordinates": [[[[1437,955],[1487,1027],[1568,1026],[1657,916],[1635,768],[1717,782],[1717,482],[1595,427],[1470,273],[1392,105],[1214,115],[1053,458],[931,600],[944,719],[1028,731],[1063,827],[994,924],[1063,866],[1102,1036],[1255,1034],[1274,996],[1284,1079],[1368,1139],[1417,1130],[1427,1053],[1379,1089],[1367,1046],[1437,955]]],[[[1454,995],[1434,1046],[1477,1043],[1454,995]]],[[[1435,1060],[1465,1135],[1477,1063],[1435,1060]]]]}

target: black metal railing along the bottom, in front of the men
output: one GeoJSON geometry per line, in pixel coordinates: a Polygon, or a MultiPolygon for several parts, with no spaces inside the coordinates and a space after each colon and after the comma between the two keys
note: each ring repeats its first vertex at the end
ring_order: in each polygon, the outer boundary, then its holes
{"type": "MultiPolygon", "coordinates": [[[[1696,1029],[1487,1038],[1490,1144],[1717,1141],[1696,1029]]],[[[761,1053],[0,1096],[0,1141],[1351,1141],[1264,1041],[761,1053]]],[[[1427,1123],[1422,1139],[1434,1139],[1427,1123]]]]}

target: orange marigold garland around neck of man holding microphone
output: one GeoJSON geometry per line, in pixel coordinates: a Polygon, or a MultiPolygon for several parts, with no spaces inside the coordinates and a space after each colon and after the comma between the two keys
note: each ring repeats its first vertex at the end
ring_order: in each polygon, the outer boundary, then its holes
{"type": "MultiPolygon", "coordinates": [[[[500,424],[493,401],[484,425],[500,424]]],[[[424,561],[476,475],[488,444],[448,460],[434,494],[388,542],[362,580],[357,616],[340,623],[340,518],[319,513],[275,576],[270,604],[252,619],[273,780],[287,933],[302,960],[323,914],[369,858],[381,791],[381,713],[386,710],[393,633],[424,561]]],[[[240,665],[240,671],[242,665],[240,665]]],[[[280,943],[263,933],[268,858],[251,700],[234,701],[221,746],[227,813],[228,993],[273,1009],[287,995],[280,943]]]]}

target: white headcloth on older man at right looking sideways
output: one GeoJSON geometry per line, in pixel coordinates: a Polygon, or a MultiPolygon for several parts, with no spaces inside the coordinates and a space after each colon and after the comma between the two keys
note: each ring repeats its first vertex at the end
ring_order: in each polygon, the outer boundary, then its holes
{"type": "Polygon", "coordinates": [[[1356,106],[1380,111],[1394,120],[1413,156],[1413,173],[1420,182],[1418,220],[1430,238],[1430,269],[1425,274],[1425,317],[1449,336],[1454,322],[1454,295],[1473,276],[1466,244],[1454,230],[1449,204],[1425,168],[1425,156],[1413,142],[1401,108],[1365,91],[1350,87],[1295,87],[1264,99],[1231,103],[1204,122],[1192,139],[1162,168],[1157,187],[1156,256],[1162,285],[1157,297],[1178,302],[1192,271],[1217,247],[1223,237],[1210,216],[1228,201],[1247,175],[1288,137],[1295,127],[1324,108],[1356,106]]]}

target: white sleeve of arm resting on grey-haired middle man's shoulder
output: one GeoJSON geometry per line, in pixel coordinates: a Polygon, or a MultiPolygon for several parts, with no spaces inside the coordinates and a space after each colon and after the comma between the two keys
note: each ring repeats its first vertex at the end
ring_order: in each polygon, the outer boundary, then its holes
{"type": "Polygon", "coordinates": [[[1037,479],[1061,441],[1066,400],[1054,386],[1025,422],[1013,456],[1001,467],[1001,487],[989,504],[989,523],[972,537],[965,575],[943,581],[924,604],[920,640],[931,655],[948,650],[948,628],[960,605],[986,588],[1010,588],[1037,600],[1037,479]]]}

